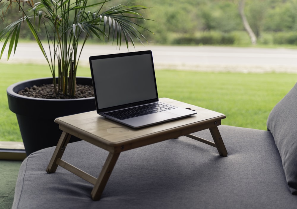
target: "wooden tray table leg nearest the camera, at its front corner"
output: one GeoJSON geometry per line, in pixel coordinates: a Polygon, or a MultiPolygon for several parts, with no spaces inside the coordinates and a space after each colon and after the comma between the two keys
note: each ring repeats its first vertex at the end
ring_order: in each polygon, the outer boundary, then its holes
{"type": "Polygon", "coordinates": [[[102,170],[99,174],[99,177],[94,185],[94,188],[91,192],[91,197],[93,200],[99,200],[101,194],[106,186],[106,183],[111,175],[111,172],[116,164],[116,161],[119,158],[120,153],[109,153],[105,161],[105,164],[102,167],[102,170]]]}

